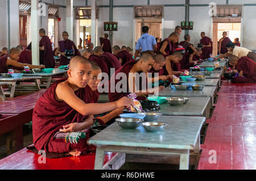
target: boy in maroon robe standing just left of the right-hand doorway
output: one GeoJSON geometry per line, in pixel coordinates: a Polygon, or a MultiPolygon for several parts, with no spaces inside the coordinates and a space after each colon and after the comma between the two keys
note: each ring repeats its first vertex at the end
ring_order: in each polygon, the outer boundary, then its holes
{"type": "Polygon", "coordinates": [[[200,36],[202,38],[200,44],[203,45],[203,47],[201,47],[203,50],[203,59],[210,58],[210,54],[212,54],[212,40],[205,36],[205,32],[201,32],[200,36]]]}

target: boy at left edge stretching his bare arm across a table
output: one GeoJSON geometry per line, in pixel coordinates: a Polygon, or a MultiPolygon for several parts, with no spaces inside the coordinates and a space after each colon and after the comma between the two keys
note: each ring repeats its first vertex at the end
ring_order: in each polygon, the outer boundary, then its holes
{"type": "Polygon", "coordinates": [[[30,64],[22,64],[18,62],[20,50],[16,48],[12,48],[10,50],[10,54],[6,54],[0,58],[0,73],[7,73],[8,69],[24,69],[24,66],[29,66],[32,69],[43,69],[45,68],[44,65],[30,65],[30,64]]]}

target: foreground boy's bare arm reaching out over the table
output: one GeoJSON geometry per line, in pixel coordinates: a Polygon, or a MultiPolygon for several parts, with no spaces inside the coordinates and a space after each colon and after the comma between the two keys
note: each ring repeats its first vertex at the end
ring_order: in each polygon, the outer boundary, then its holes
{"type": "Polygon", "coordinates": [[[56,97],[59,100],[63,100],[81,115],[97,115],[100,113],[112,111],[116,108],[130,107],[132,104],[131,99],[122,98],[117,102],[96,104],[86,104],[80,98],[75,95],[75,92],[67,85],[67,82],[60,83],[56,88],[56,97]]]}

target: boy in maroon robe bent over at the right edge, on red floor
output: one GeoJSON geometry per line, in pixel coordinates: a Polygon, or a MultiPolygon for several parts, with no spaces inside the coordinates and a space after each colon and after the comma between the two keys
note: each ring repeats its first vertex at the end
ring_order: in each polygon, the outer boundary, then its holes
{"type": "Polygon", "coordinates": [[[236,70],[231,73],[239,73],[238,77],[234,77],[234,83],[255,83],[256,82],[256,62],[249,57],[238,58],[235,55],[229,56],[229,65],[236,66],[236,70]]]}

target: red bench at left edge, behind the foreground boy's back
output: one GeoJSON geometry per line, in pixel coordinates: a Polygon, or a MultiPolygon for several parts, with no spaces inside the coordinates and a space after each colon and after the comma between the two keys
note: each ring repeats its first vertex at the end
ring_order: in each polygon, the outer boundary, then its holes
{"type": "Polygon", "coordinates": [[[41,90],[0,102],[0,114],[4,116],[0,118],[0,135],[11,132],[10,137],[14,140],[11,138],[13,143],[7,141],[7,145],[14,145],[12,151],[23,148],[23,124],[30,123],[32,120],[35,104],[45,91],[41,90]]]}

